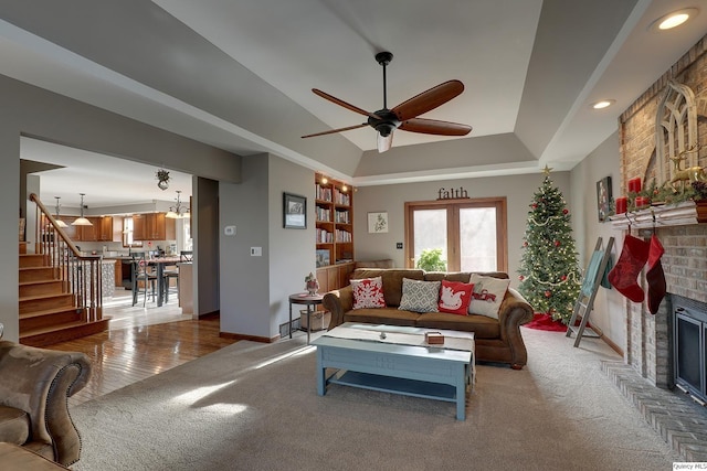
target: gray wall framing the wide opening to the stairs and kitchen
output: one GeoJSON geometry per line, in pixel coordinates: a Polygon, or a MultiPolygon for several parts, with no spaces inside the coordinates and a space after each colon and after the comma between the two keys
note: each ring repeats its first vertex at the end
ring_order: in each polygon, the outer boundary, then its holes
{"type": "MultiPolygon", "coordinates": [[[[239,156],[2,75],[0,103],[0,196],[10,203],[0,207],[0,218],[6,222],[17,221],[19,214],[22,135],[213,180],[241,179],[239,156]]],[[[4,338],[14,341],[19,330],[15,224],[0,227],[0,246],[4,247],[0,253],[0,322],[4,338]]]]}

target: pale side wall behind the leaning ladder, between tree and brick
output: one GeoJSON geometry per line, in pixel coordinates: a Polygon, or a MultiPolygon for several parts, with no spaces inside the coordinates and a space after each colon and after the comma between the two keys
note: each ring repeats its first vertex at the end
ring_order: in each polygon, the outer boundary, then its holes
{"type": "MultiPolygon", "coordinates": [[[[582,267],[587,267],[597,239],[602,237],[604,244],[614,237],[613,259],[619,258],[623,237],[621,232],[614,231],[611,223],[599,222],[597,212],[597,182],[604,176],[611,176],[612,195],[620,196],[621,171],[619,153],[619,133],[614,132],[590,153],[571,171],[571,210],[574,217],[572,227],[578,238],[578,250],[582,267]]],[[[614,344],[624,349],[626,345],[626,329],[623,314],[624,298],[615,289],[600,288],[594,299],[594,310],[590,314],[592,324],[601,329],[604,335],[614,344]]]]}

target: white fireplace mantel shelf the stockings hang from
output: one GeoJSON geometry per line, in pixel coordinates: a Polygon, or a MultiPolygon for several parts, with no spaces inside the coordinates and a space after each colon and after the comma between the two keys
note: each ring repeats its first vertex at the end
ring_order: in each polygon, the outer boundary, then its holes
{"type": "Polygon", "coordinates": [[[645,210],[609,216],[609,221],[615,229],[620,231],[627,231],[629,225],[632,228],[659,228],[705,224],[707,223],[707,201],[686,201],[679,204],[651,206],[645,210]]]}

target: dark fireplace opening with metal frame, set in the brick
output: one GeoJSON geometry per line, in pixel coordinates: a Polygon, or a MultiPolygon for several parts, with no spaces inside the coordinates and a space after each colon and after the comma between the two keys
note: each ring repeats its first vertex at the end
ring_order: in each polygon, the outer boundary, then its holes
{"type": "Polygon", "coordinates": [[[675,386],[707,403],[707,304],[672,295],[675,386]]]}

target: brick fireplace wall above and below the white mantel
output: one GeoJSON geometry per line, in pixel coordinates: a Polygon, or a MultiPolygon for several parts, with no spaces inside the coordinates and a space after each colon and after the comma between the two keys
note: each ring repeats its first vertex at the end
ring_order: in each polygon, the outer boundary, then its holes
{"type": "MultiPolygon", "coordinates": [[[[675,98],[675,103],[678,99],[675,98]]],[[[619,127],[622,194],[627,194],[631,179],[641,178],[644,184],[656,181],[658,185],[669,181],[676,171],[672,157],[689,156],[690,163],[686,161],[684,168],[707,167],[707,36],[623,113],[619,127]],[[678,116],[675,118],[677,124],[668,132],[659,129],[656,122],[674,119],[662,115],[671,88],[687,90],[692,107],[686,106],[684,115],[692,114],[693,119],[688,126],[688,119],[685,117],[680,122],[683,117],[678,116]],[[694,151],[687,152],[690,149],[694,151]]],[[[643,214],[645,216],[645,211],[643,214]]],[[[637,226],[634,225],[632,235],[648,239],[653,234],[653,224],[637,226]]],[[[627,227],[620,228],[626,234],[627,227]]],[[[658,221],[655,234],[665,248],[662,264],[668,293],[707,303],[707,224],[658,221]]],[[[622,243],[623,237],[618,237],[619,250],[622,243]]],[[[647,289],[645,278],[639,282],[647,289]]],[[[672,387],[674,313],[671,296],[666,296],[655,315],[648,312],[646,302],[639,304],[625,300],[623,309],[625,361],[655,386],[672,387]]]]}

